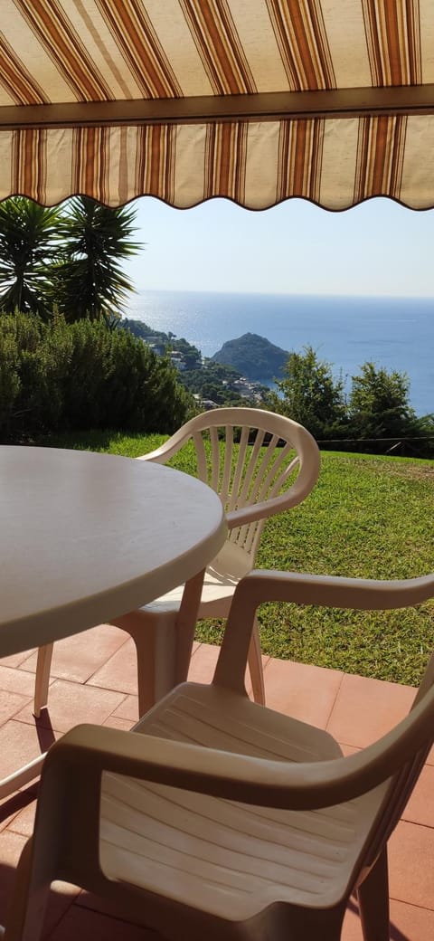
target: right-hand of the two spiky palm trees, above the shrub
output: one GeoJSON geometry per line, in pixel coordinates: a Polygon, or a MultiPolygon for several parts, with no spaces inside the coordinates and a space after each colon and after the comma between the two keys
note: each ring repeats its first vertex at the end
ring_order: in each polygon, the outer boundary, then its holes
{"type": "Polygon", "coordinates": [[[67,204],[53,298],[67,320],[103,317],[111,324],[118,318],[133,290],[121,262],[139,249],[131,239],[134,218],[131,207],[111,209],[86,196],[67,204]]]}

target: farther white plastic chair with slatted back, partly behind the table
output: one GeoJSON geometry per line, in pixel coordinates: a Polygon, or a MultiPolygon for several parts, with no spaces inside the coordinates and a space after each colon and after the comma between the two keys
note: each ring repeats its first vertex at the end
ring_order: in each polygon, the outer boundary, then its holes
{"type": "MultiPolygon", "coordinates": [[[[225,505],[229,535],[208,566],[197,617],[225,618],[237,583],[255,564],[265,520],[302,502],[316,484],[319,452],[302,425],[259,408],[217,408],[196,416],[162,447],[138,460],[165,464],[193,442],[197,476],[225,505]],[[225,446],[219,433],[225,432],[225,446]],[[240,443],[235,446],[235,439],[240,443]]],[[[190,465],[189,465],[190,466],[190,465]]],[[[183,586],[112,623],[132,635],[137,650],[139,714],[187,678],[194,618],[184,624],[183,586]]],[[[53,645],[39,650],[35,715],[47,702],[53,645]]],[[[257,623],[249,652],[253,694],[264,702],[257,623]]]]}

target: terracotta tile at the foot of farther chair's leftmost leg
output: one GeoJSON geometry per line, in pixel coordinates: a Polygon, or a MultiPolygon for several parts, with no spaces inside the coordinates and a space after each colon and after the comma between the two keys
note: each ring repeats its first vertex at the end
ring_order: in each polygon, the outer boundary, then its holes
{"type": "MultiPolygon", "coordinates": [[[[83,686],[55,679],[50,687],[48,709],[41,710],[40,726],[52,726],[58,732],[67,732],[82,722],[101,725],[122,702],[123,694],[99,687],[83,686]]],[[[35,724],[31,705],[16,716],[19,722],[35,724]]]]}

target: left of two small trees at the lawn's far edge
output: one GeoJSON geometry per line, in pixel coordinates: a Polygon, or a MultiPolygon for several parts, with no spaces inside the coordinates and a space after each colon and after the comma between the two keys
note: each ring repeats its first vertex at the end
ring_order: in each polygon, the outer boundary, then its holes
{"type": "Polygon", "coordinates": [[[339,434],[346,423],[346,402],[342,379],[334,379],[332,366],[318,359],[312,346],[302,353],[290,353],[285,377],[276,383],[283,398],[271,393],[271,405],[303,424],[314,438],[339,434]]]}

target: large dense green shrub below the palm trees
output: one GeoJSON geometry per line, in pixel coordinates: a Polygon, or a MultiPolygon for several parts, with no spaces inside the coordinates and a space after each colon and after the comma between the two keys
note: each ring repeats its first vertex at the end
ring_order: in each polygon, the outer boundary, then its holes
{"type": "Polygon", "coordinates": [[[103,321],[49,323],[0,316],[0,437],[40,439],[111,427],[165,434],[185,420],[190,397],[167,359],[103,321]]]}

